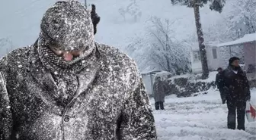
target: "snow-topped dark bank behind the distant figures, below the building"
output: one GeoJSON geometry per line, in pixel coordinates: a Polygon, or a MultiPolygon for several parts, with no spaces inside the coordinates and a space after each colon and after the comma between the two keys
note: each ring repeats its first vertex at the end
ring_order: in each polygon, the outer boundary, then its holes
{"type": "MultiPolygon", "coordinates": [[[[172,76],[171,78],[168,78],[171,76],[171,73],[168,73],[168,72],[157,73],[155,76],[161,76],[162,80],[165,81],[164,83],[168,88],[167,92],[165,93],[166,95],[177,95],[178,97],[190,97],[190,96],[208,94],[209,90],[218,90],[216,89],[216,85],[215,85],[217,73],[218,72],[216,71],[210,72],[209,78],[207,79],[201,79],[201,74],[197,74],[197,75],[185,74],[181,76],[172,76]]],[[[251,79],[249,75],[248,75],[248,79],[249,79],[249,84],[251,88],[256,87],[256,80],[251,79]]]]}

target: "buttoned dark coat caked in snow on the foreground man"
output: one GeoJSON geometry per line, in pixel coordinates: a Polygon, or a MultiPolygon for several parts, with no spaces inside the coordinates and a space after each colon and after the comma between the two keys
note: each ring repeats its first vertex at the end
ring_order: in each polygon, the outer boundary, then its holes
{"type": "Polygon", "coordinates": [[[98,61],[77,74],[80,87],[66,106],[56,98],[56,84],[38,58],[37,45],[3,58],[0,139],[156,138],[136,65],[115,48],[97,46],[98,61]]]}

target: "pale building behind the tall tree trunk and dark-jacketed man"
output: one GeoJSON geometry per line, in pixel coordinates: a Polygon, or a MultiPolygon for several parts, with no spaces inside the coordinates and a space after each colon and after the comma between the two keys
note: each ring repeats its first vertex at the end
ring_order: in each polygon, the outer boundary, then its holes
{"type": "MultiPolygon", "coordinates": [[[[226,68],[229,58],[241,58],[242,67],[247,73],[256,73],[256,33],[246,34],[240,39],[224,43],[205,43],[208,67],[210,71],[218,67],[226,68]]],[[[193,73],[202,73],[200,51],[194,45],[190,51],[191,69],[193,73]]]]}

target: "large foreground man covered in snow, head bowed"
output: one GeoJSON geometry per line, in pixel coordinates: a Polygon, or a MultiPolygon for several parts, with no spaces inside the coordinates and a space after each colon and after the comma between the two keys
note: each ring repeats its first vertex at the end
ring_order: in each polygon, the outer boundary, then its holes
{"type": "Polygon", "coordinates": [[[136,64],[94,42],[79,2],[49,8],[34,45],[0,61],[0,139],[156,139],[136,64]]]}

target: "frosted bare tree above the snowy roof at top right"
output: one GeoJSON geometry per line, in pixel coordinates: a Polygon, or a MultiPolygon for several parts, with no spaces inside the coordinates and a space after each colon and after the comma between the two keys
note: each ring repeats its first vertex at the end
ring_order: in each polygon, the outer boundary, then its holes
{"type": "Polygon", "coordinates": [[[256,2],[251,0],[227,0],[221,17],[211,26],[203,28],[207,42],[230,42],[248,33],[255,33],[256,2]]]}

